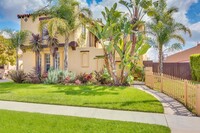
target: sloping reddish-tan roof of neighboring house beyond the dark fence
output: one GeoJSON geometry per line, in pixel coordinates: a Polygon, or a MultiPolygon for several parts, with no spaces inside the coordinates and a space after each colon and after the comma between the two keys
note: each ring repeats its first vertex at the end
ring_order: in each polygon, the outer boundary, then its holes
{"type": "Polygon", "coordinates": [[[190,62],[190,56],[193,54],[200,54],[200,43],[198,43],[197,46],[195,47],[192,47],[190,49],[166,57],[166,60],[164,60],[164,62],[166,63],[190,62]]]}

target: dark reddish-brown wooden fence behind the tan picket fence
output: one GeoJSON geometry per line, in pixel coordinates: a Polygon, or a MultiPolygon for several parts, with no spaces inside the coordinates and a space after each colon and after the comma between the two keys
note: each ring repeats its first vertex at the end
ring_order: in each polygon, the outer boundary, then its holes
{"type": "MultiPolygon", "coordinates": [[[[145,67],[152,67],[155,73],[159,70],[159,64],[157,62],[144,61],[143,64],[145,67]]],[[[163,63],[163,74],[187,80],[192,79],[190,64],[188,62],[163,63]]]]}

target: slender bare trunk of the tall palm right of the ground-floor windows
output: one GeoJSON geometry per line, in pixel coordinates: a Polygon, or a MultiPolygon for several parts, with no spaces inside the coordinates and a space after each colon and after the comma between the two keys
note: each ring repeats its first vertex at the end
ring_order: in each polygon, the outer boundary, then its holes
{"type": "Polygon", "coordinates": [[[65,45],[64,45],[64,70],[68,70],[68,43],[69,38],[65,35],[65,45]]]}

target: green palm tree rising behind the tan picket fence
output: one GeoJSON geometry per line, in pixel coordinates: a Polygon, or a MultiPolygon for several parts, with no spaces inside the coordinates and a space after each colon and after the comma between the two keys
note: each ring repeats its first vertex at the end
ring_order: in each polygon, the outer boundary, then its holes
{"type": "Polygon", "coordinates": [[[163,73],[163,47],[170,49],[179,49],[185,44],[185,40],[181,32],[188,33],[191,36],[191,31],[181,23],[177,23],[173,19],[173,14],[178,9],[175,7],[167,8],[165,0],[159,0],[154,3],[154,7],[150,9],[152,13],[151,21],[147,24],[147,33],[155,40],[155,47],[159,51],[159,73],[163,73]],[[177,40],[180,43],[170,45],[171,40],[177,40]]]}

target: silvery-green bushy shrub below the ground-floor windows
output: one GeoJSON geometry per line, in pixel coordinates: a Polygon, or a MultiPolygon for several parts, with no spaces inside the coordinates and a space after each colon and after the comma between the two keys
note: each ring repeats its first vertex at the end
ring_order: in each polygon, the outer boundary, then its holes
{"type": "MultiPolygon", "coordinates": [[[[44,75],[45,76],[45,75],[44,75]]],[[[76,75],[72,72],[63,70],[49,70],[47,78],[44,80],[46,84],[69,83],[75,80],[76,75]]]]}

